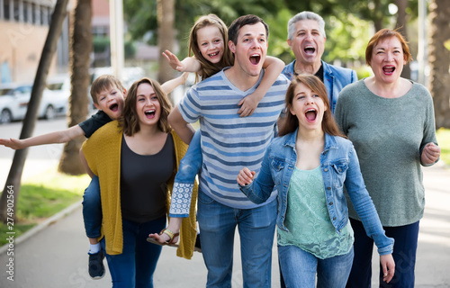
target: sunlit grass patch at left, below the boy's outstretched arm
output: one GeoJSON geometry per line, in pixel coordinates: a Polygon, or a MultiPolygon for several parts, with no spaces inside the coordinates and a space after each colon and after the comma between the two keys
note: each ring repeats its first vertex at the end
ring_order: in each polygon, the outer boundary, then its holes
{"type": "MultiPolygon", "coordinates": [[[[64,175],[53,169],[28,178],[15,198],[15,238],[72,203],[81,201],[90,180],[88,175],[64,175]]],[[[0,223],[0,235],[6,235],[7,231],[8,227],[0,223]]],[[[0,246],[4,244],[6,238],[0,238],[0,246]]]]}

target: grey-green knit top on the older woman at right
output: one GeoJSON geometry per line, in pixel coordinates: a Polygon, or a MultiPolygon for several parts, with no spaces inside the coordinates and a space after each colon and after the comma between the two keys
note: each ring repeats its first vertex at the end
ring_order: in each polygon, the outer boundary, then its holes
{"type": "MultiPolygon", "coordinates": [[[[399,98],[372,93],[364,79],[339,94],[335,118],[358,155],[365,185],[383,226],[420,220],[425,193],[420,155],[437,144],[433,100],[425,86],[413,83],[399,98]]],[[[349,216],[359,220],[347,198],[349,216]]]]}

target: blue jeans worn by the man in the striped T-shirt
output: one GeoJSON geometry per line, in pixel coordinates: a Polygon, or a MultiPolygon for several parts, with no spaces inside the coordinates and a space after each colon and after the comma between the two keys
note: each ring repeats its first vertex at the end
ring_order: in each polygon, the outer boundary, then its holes
{"type": "Polygon", "coordinates": [[[199,191],[197,220],[202,256],[208,269],[206,287],[231,287],[236,226],[243,287],[270,287],[276,201],[254,209],[234,209],[199,191]]]}

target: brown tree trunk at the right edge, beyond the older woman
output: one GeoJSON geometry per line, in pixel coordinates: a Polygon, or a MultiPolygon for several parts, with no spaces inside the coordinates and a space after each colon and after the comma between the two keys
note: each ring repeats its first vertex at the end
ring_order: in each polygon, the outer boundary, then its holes
{"type": "Polygon", "coordinates": [[[433,0],[429,4],[431,41],[429,46],[430,93],[434,97],[437,128],[450,128],[450,2],[433,0]]]}

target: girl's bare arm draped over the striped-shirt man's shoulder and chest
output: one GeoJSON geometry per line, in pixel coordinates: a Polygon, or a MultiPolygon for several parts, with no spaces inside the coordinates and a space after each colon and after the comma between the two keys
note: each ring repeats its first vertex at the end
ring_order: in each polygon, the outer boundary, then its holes
{"type": "Polygon", "coordinates": [[[238,111],[239,117],[247,117],[255,112],[257,104],[263,99],[269,88],[274,85],[276,79],[284,69],[284,62],[279,58],[267,56],[263,64],[266,72],[257,90],[254,93],[247,95],[244,99],[239,101],[240,109],[238,111]]]}

